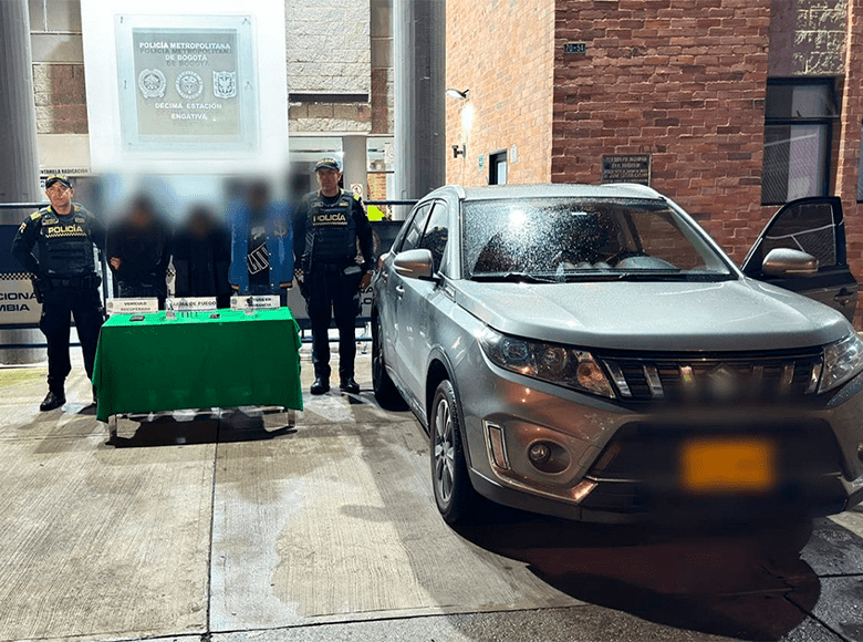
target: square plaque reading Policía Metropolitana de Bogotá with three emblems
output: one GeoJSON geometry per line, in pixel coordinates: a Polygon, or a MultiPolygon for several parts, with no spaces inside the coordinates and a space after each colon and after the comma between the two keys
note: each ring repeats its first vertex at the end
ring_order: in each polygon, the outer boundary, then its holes
{"type": "Polygon", "coordinates": [[[170,27],[160,17],[116,18],[124,146],[254,149],[258,86],[250,17],[184,22],[184,17],[171,17],[170,27]]]}

